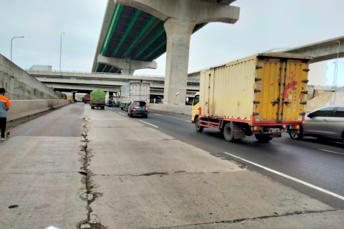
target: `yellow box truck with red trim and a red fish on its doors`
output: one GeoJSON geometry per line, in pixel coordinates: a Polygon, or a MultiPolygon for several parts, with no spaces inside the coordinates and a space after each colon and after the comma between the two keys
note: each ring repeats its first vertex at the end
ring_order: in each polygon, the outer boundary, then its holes
{"type": "Polygon", "coordinates": [[[198,113],[192,117],[196,130],[218,129],[232,142],[253,134],[266,142],[297,131],[304,122],[311,59],[260,53],[202,70],[198,113]]]}

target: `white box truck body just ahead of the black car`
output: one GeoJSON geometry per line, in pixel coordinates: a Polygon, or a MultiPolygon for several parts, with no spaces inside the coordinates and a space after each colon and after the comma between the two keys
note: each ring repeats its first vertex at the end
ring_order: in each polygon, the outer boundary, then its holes
{"type": "Polygon", "coordinates": [[[127,111],[127,106],[132,101],[144,101],[150,105],[150,83],[127,83],[121,87],[120,106],[121,110],[127,111]]]}

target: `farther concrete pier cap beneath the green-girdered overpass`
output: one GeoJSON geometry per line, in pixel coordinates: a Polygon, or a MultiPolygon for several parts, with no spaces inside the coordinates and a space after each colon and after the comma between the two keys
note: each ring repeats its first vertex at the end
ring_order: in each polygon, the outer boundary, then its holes
{"type": "Polygon", "coordinates": [[[135,70],[143,68],[156,69],[158,67],[157,62],[152,61],[139,61],[132,60],[130,58],[120,59],[114,57],[106,57],[101,54],[98,55],[98,64],[111,65],[118,69],[121,69],[122,74],[132,75],[135,70]]]}

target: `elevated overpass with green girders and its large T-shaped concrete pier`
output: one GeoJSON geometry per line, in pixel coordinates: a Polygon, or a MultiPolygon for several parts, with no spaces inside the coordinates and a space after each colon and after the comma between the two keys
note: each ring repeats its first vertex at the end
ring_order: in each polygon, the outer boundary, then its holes
{"type": "Polygon", "coordinates": [[[166,52],[164,103],[184,104],[191,34],[209,22],[235,23],[233,1],[108,0],[91,71],[155,69],[166,52]]]}

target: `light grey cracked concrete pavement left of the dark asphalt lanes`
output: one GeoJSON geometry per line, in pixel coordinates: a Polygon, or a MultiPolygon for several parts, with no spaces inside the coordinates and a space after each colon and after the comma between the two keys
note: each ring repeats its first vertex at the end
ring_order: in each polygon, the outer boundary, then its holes
{"type": "Polygon", "coordinates": [[[0,228],[343,227],[340,208],[151,120],[76,103],[13,129],[0,144],[0,228]]]}

